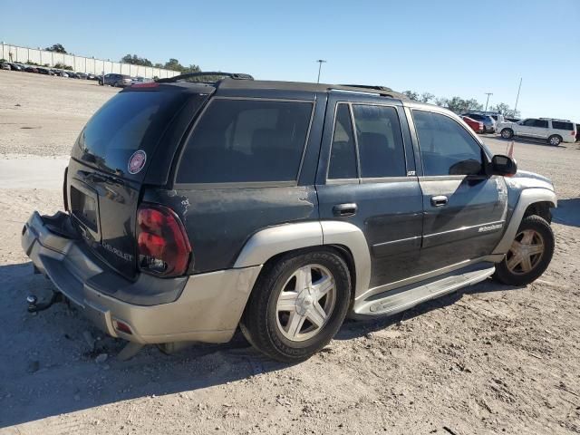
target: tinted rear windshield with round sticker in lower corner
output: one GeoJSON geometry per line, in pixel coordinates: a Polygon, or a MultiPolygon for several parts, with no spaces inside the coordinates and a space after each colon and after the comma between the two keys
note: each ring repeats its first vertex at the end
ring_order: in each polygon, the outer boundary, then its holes
{"type": "Polygon", "coordinates": [[[87,122],[73,147],[73,157],[99,169],[142,179],[169,121],[185,102],[184,92],[120,92],[87,122]],[[142,150],[145,167],[131,175],[131,155],[142,150]]]}

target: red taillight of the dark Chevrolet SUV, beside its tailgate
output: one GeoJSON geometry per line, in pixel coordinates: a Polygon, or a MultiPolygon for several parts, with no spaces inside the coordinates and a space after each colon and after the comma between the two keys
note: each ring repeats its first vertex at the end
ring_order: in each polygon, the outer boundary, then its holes
{"type": "Polygon", "coordinates": [[[137,211],[137,244],[141,271],[178,276],[188,270],[191,246],[173,210],[142,204],[137,211]]]}

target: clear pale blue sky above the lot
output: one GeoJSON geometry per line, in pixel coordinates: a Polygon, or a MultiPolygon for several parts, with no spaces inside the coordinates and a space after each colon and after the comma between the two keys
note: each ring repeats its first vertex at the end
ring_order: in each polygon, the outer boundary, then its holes
{"type": "Polygon", "coordinates": [[[0,40],[266,80],[366,83],[580,121],[580,0],[0,2],[0,40]]]}

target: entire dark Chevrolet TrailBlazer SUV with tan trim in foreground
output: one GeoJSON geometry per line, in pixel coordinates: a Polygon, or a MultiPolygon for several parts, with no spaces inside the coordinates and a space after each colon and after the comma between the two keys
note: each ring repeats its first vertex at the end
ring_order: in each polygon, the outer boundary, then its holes
{"type": "Polygon", "coordinates": [[[73,146],[65,211],[24,225],[36,270],[130,341],[123,357],[225,343],[239,325],[262,353],[299,362],[347,314],[399,313],[488,276],[526,285],[548,266],[554,186],[516,173],[452,112],[220,75],[113,96],[73,146]]]}

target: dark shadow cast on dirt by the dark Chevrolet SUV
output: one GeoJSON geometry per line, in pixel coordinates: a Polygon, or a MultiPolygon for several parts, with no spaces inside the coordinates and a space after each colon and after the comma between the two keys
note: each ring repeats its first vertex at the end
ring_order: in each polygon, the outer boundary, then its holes
{"type": "MultiPolygon", "coordinates": [[[[149,400],[185,391],[191,397],[201,389],[287,367],[256,353],[241,334],[227,344],[199,344],[169,356],[150,346],[130,361],[117,361],[114,355],[123,342],[106,337],[66,304],[36,315],[26,312],[25,295],[48,297],[53,288],[42,275],[32,275],[30,263],[0,266],[0,283],[4,323],[0,328],[0,428],[129,399],[149,400]],[[87,341],[87,332],[95,339],[94,345],[87,341]],[[106,361],[97,362],[105,353],[106,361]]],[[[387,328],[453,304],[467,293],[503,290],[506,286],[487,281],[391,318],[347,321],[336,339],[349,340],[387,328]]]]}

